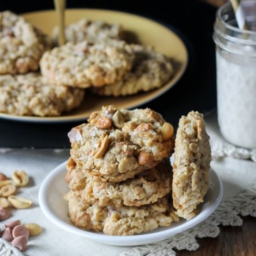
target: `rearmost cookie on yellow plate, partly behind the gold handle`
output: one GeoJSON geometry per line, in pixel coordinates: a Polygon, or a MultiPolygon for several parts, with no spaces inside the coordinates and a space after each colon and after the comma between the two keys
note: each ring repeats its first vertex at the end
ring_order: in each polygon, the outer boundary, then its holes
{"type": "MultiPolygon", "coordinates": [[[[81,19],[65,28],[66,39],[74,44],[87,40],[89,42],[100,42],[108,39],[123,39],[122,27],[108,24],[102,20],[81,19]]],[[[58,45],[59,28],[54,27],[53,41],[58,45]]]]}

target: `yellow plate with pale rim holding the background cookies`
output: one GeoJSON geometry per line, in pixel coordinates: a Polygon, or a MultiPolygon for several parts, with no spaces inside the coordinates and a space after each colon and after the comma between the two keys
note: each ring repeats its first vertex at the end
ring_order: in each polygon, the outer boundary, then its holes
{"type": "MultiPolygon", "coordinates": [[[[51,35],[56,25],[54,11],[40,11],[24,13],[23,17],[45,33],[51,35]]],[[[119,108],[135,108],[151,101],[171,88],[184,73],[188,63],[188,52],[182,40],[170,29],[161,24],[134,14],[99,9],[68,9],[66,10],[66,24],[88,18],[90,20],[104,20],[109,23],[118,22],[125,30],[134,32],[143,45],[151,45],[156,51],[168,55],[175,61],[175,74],[162,88],[147,93],[140,93],[126,97],[104,97],[86,93],[80,108],[59,117],[17,116],[0,114],[0,117],[30,122],[62,122],[82,121],[90,113],[99,110],[103,105],[114,104],[119,108]]]]}

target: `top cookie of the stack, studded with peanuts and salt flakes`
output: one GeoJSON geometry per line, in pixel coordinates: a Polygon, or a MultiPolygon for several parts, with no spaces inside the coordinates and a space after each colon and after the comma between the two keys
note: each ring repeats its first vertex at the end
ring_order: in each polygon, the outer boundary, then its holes
{"type": "Polygon", "coordinates": [[[102,107],[88,122],[68,133],[70,154],[79,167],[110,182],[133,178],[172,154],[173,127],[149,108],[102,107]]]}

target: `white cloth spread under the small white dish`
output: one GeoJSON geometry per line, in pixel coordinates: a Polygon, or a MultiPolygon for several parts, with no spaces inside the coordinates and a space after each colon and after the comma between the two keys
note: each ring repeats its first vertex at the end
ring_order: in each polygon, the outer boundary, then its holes
{"type": "MultiPolygon", "coordinates": [[[[33,206],[29,209],[12,210],[8,221],[20,219],[22,224],[34,222],[43,228],[43,232],[39,236],[29,238],[27,249],[23,253],[13,248],[11,243],[0,238],[0,256],[171,256],[175,255],[173,248],[197,249],[199,245],[196,243],[195,237],[217,236],[218,225],[221,223],[241,225],[242,219],[238,214],[256,216],[256,187],[254,187],[256,163],[231,157],[220,159],[222,153],[217,148],[220,148],[220,142],[222,149],[227,144],[218,130],[216,115],[211,114],[206,117],[206,122],[211,145],[212,148],[215,148],[214,152],[218,158],[218,160],[212,161],[211,165],[221,177],[224,185],[222,205],[217,209],[216,214],[220,216],[220,219],[216,220],[216,216],[210,216],[208,220],[199,224],[198,227],[190,229],[189,232],[185,231],[165,241],[135,248],[92,242],[58,228],[43,215],[38,204],[40,184],[52,169],[67,160],[69,150],[13,149],[8,151],[0,149],[0,172],[11,177],[15,169],[26,171],[30,176],[30,182],[27,187],[20,188],[17,195],[33,201],[33,206]]],[[[234,157],[234,155],[231,156],[234,157]]],[[[1,227],[4,222],[0,223],[1,227]]]]}

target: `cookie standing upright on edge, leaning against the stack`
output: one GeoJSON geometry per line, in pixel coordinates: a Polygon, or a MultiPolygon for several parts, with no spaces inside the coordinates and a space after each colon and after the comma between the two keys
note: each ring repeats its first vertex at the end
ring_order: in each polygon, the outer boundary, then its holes
{"type": "Polygon", "coordinates": [[[191,111],[179,121],[173,166],[173,204],[187,220],[196,216],[209,188],[211,149],[203,115],[191,111]]]}

